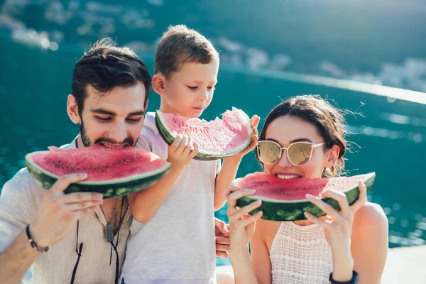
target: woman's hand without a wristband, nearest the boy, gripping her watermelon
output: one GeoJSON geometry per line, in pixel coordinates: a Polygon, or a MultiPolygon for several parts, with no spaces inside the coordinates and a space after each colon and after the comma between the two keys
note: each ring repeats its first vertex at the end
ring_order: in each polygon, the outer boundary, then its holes
{"type": "Polygon", "coordinates": [[[241,190],[240,187],[229,185],[227,191],[228,209],[226,214],[229,219],[229,234],[231,237],[230,251],[233,249],[247,248],[251,236],[253,236],[256,221],[262,217],[263,212],[259,211],[250,215],[253,209],[261,206],[261,200],[252,202],[242,208],[236,207],[236,200],[241,197],[253,195],[256,190],[241,190]]]}

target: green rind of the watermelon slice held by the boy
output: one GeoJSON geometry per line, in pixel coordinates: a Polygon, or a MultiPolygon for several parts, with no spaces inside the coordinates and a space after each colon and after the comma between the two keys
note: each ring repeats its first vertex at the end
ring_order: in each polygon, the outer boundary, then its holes
{"type": "MultiPolygon", "coordinates": [[[[155,125],[157,126],[158,132],[160,133],[161,137],[163,137],[164,141],[168,143],[168,145],[171,145],[173,141],[175,141],[176,137],[173,136],[172,131],[170,131],[170,129],[168,129],[167,126],[165,126],[163,119],[161,119],[161,112],[158,110],[155,111],[155,125]]],[[[252,131],[251,126],[249,127],[249,131],[252,131]]],[[[195,155],[194,159],[195,160],[219,160],[226,157],[230,157],[231,155],[235,155],[236,153],[243,151],[245,148],[247,148],[247,146],[250,145],[251,133],[249,134],[249,138],[247,139],[246,143],[241,144],[241,146],[239,146],[239,148],[235,148],[234,151],[231,151],[229,153],[208,153],[200,149],[197,155],[195,155]]]]}

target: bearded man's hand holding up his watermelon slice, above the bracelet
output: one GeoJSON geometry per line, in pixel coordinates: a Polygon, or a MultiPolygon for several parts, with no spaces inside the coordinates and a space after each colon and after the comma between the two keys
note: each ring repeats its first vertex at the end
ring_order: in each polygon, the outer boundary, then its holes
{"type": "Polygon", "coordinates": [[[102,195],[94,192],[74,192],[68,195],[64,190],[72,182],[87,178],[84,173],[63,175],[50,190],[45,192],[38,213],[30,225],[35,243],[44,248],[62,240],[70,233],[78,219],[95,212],[102,204],[102,195]]]}

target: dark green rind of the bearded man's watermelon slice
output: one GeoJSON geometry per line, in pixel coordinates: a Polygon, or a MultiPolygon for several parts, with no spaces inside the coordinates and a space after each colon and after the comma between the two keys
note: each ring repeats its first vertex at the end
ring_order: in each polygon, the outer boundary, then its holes
{"type": "MultiPolygon", "coordinates": [[[[26,155],[25,164],[31,177],[45,190],[50,190],[59,178],[57,175],[53,175],[38,165],[35,165],[31,160],[31,153],[26,155]]],[[[72,192],[98,192],[103,195],[104,199],[129,195],[130,193],[145,190],[151,185],[154,185],[155,182],[158,182],[158,180],[168,173],[170,167],[171,164],[167,163],[163,168],[150,173],[132,175],[129,178],[120,178],[105,182],[75,182],[70,184],[64,192],[65,194],[72,192]]]]}

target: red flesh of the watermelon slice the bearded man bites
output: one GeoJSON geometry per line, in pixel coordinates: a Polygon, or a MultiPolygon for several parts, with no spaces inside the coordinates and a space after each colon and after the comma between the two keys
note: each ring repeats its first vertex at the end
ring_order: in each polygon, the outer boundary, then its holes
{"type": "Polygon", "coordinates": [[[132,175],[151,173],[167,162],[151,152],[134,147],[85,148],[40,151],[31,154],[35,165],[56,176],[87,173],[84,182],[117,180],[132,175]]]}

